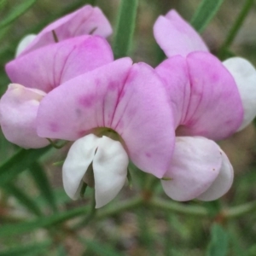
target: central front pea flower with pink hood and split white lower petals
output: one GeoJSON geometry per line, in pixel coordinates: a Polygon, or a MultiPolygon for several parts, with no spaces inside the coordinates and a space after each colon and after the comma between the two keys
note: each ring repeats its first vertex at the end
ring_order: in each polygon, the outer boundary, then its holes
{"type": "Polygon", "coordinates": [[[172,127],[160,78],[130,58],[68,80],[38,108],[40,137],[74,141],[63,165],[67,195],[76,199],[84,182],[94,182],[97,208],[123,187],[128,159],[143,172],[164,175],[172,156],[172,127]]]}

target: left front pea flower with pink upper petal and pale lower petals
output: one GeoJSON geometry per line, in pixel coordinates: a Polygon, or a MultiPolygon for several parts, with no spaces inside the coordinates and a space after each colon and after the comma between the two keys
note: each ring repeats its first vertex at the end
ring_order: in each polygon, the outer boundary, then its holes
{"type": "MultiPolygon", "coordinates": [[[[108,42],[84,35],[49,44],[20,55],[6,65],[12,83],[0,100],[4,136],[23,148],[42,148],[49,142],[38,137],[38,106],[60,84],[113,61],[108,42]]],[[[63,98],[64,99],[64,98],[63,98]]]]}

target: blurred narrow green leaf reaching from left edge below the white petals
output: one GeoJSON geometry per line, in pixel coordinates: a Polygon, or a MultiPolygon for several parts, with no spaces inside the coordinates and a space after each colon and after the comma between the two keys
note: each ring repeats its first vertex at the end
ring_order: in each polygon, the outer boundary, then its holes
{"type": "Polygon", "coordinates": [[[52,228],[55,224],[61,224],[68,219],[86,214],[89,211],[89,208],[90,207],[79,207],[70,211],[55,213],[51,216],[37,218],[33,221],[2,225],[0,229],[0,237],[20,235],[39,228],[52,228]]]}

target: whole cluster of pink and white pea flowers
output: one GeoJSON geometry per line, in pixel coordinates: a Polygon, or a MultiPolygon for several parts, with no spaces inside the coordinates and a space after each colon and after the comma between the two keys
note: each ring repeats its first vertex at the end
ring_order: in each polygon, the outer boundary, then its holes
{"type": "Polygon", "coordinates": [[[174,10],[154,24],[167,56],[156,68],[113,60],[111,33],[102,11],[87,5],[24,38],[6,65],[13,84],[0,100],[4,136],[23,148],[72,141],[64,189],[75,200],[84,183],[93,186],[96,207],[122,189],[129,160],[174,200],[224,195],[233,168],[214,141],[256,115],[254,67],[218,61],[174,10]]]}

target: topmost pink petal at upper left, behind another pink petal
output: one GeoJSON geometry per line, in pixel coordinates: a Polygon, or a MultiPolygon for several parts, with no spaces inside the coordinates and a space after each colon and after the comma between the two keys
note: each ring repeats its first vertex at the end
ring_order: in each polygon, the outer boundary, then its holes
{"type": "Polygon", "coordinates": [[[62,41],[67,38],[90,34],[90,32],[107,38],[112,33],[112,28],[101,9],[85,5],[72,14],[46,26],[42,32],[39,32],[37,38],[21,52],[20,56],[45,45],[54,44],[53,31],[55,31],[58,41],[62,41]]]}

